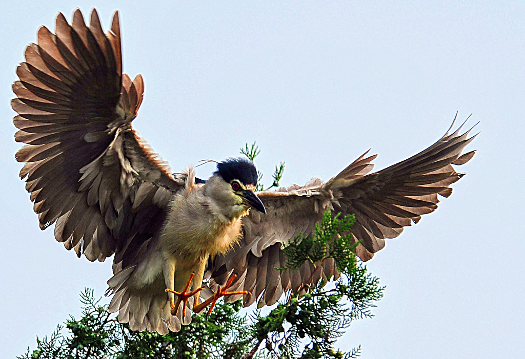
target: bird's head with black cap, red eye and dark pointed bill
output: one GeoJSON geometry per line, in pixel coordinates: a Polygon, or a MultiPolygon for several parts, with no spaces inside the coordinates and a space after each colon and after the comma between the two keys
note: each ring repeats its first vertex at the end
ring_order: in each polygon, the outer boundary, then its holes
{"type": "Polygon", "coordinates": [[[254,193],[257,170],[253,162],[243,158],[229,158],[217,164],[217,170],[206,182],[209,194],[224,214],[230,217],[246,215],[250,208],[266,214],[261,200],[254,193]]]}

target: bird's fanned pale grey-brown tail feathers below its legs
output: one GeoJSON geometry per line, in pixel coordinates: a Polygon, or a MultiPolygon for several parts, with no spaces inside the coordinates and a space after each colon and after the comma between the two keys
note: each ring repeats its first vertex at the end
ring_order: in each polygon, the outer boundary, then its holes
{"type": "MultiPolygon", "coordinates": [[[[108,280],[106,296],[113,295],[108,310],[111,313],[119,312],[119,322],[129,323],[131,330],[156,331],[161,335],[167,334],[169,330],[178,332],[181,323],[191,322],[191,310],[186,311],[184,320],[182,318],[182,303],[177,316],[171,314],[170,301],[162,285],[160,288],[157,285],[133,288],[130,278],[135,268],[137,266],[124,268],[108,280]]],[[[193,308],[193,298],[188,300],[187,306],[193,308]]]]}

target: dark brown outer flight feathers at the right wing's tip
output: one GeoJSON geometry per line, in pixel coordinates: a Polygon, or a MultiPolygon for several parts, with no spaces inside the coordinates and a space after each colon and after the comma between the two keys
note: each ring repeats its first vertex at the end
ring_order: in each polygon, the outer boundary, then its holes
{"type": "Polygon", "coordinates": [[[463,176],[451,164],[463,165],[475,153],[461,156],[476,135],[468,138],[469,131],[460,134],[460,129],[451,134],[447,131],[421,153],[349,185],[340,175],[327,183],[327,189],[339,201],[334,211],[356,216],[352,232],[361,241],[361,259],[370,259],[384,247],[385,238],[397,237],[403,227],[417,223],[422,214],[433,212],[439,202],[438,194],[450,195],[449,185],[463,176]]]}

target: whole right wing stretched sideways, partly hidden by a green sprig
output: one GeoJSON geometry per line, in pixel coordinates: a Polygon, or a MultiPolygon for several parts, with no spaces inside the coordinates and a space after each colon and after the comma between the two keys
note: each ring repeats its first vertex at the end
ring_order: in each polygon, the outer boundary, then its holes
{"type": "MultiPolygon", "coordinates": [[[[450,127],[452,128],[453,125],[450,127]]],[[[450,129],[449,129],[450,130],[450,129]]],[[[449,131],[434,145],[411,158],[367,175],[373,168],[366,153],[328,182],[314,180],[304,187],[292,186],[272,192],[259,192],[267,215],[250,212],[243,219],[244,237],[234,251],[215,259],[209,269],[212,285],[222,285],[232,272],[239,279],[235,290],[248,290],[245,306],[273,304],[283,292],[297,292],[311,279],[313,266],[304,263],[299,271],[278,271],[286,257],[281,247],[299,233],[311,235],[325,210],[355,214],[352,234],[360,244],[356,254],[364,261],[384,247],[385,238],[401,234],[403,227],[417,223],[421,215],[437,208],[438,194],[448,197],[451,183],[463,174],[451,165],[463,165],[472,156],[461,152],[476,136],[449,131]]],[[[313,279],[338,277],[333,260],[327,260],[313,279]]],[[[229,298],[235,300],[236,298],[229,298]]]]}

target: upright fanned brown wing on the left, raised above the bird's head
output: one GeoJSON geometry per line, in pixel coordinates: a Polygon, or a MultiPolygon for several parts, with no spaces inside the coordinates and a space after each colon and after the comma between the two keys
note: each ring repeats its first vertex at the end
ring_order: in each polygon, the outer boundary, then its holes
{"type": "Polygon", "coordinates": [[[181,186],[131,127],[142,102],[140,75],[122,74],[118,13],[104,34],[95,10],[89,26],[76,10],[56,34],[38,31],[17,68],[12,106],[20,171],[40,228],[89,260],[117,252],[131,263],[158,231],[167,202],[181,186]]]}

